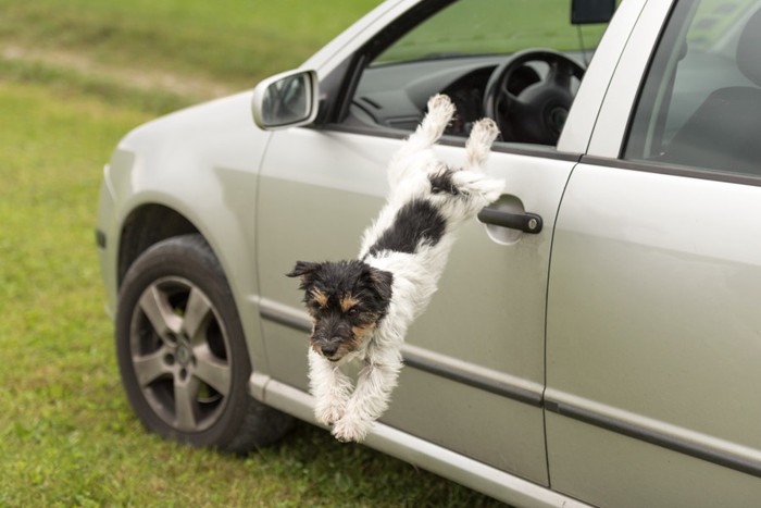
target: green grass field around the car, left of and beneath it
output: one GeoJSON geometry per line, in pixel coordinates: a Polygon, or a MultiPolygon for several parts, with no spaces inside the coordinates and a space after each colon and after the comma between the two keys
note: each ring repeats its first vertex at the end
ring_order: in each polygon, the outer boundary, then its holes
{"type": "Polygon", "coordinates": [[[375,2],[332,2],[316,35],[323,2],[245,3],[0,0],[14,53],[0,57],[0,506],[495,505],[303,423],[246,458],[166,443],[126,402],[93,239],[101,168],[128,129],[197,98],[120,73],[237,86],[279,70],[255,63],[255,28],[291,27],[270,3],[301,20],[289,66],[375,2]],[[270,17],[246,18],[257,10],[270,17]],[[233,50],[245,58],[216,61],[233,50]]]}

